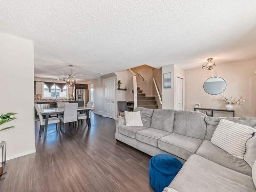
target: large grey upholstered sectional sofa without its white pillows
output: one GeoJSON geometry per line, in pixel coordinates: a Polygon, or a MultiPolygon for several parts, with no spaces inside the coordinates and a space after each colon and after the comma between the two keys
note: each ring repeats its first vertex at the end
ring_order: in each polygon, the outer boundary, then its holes
{"type": "MultiPolygon", "coordinates": [[[[239,159],[210,142],[220,117],[141,107],[134,111],[141,111],[143,126],[125,126],[124,117],[116,118],[115,138],[148,155],[171,154],[185,162],[170,188],[178,192],[256,191],[256,136],[247,141],[244,159],[239,159]]],[[[252,117],[225,119],[256,126],[252,117]]]]}

